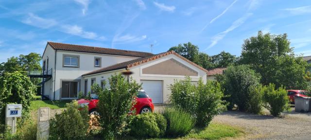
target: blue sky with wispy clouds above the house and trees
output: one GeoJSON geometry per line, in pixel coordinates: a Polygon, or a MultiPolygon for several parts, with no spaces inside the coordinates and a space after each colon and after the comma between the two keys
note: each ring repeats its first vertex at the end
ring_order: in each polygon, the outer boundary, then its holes
{"type": "Polygon", "coordinates": [[[311,0],[0,0],[0,62],[47,41],[153,53],[190,41],[240,55],[259,30],[311,55],[311,0]]]}

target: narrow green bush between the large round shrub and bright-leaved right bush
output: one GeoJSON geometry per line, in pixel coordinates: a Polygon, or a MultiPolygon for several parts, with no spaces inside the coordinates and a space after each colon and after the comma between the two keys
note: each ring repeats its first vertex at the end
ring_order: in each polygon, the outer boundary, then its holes
{"type": "Polygon", "coordinates": [[[249,88],[249,101],[247,102],[246,110],[259,114],[263,106],[263,87],[261,84],[258,86],[251,86],[249,88]]]}

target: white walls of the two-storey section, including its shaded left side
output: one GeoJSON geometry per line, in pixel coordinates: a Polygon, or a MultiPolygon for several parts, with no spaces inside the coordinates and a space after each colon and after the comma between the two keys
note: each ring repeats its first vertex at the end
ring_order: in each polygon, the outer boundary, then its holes
{"type": "MultiPolygon", "coordinates": [[[[61,82],[62,81],[77,81],[78,91],[84,91],[84,79],[82,74],[87,72],[98,70],[117,63],[137,59],[139,57],[119,56],[119,55],[107,55],[96,53],[80,53],[53,50],[48,44],[46,50],[42,56],[42,61],[46,61],[49,58],[48,69],[52,69],[52,79],[44,83],[44,95],[49,97],[50,100],[61,100],[61,82]],[[55,55],[56,54],[56,55],[55,55]],[[76,55],[79,56],[79,67],[63,67],[64,55],[76,55]],[[94,59],[101,58],[101,67],[94,67],[94,59]],[[56,58],[56,61],[55,61],[56,58]],[[54,88],[55,87],[55,88],[54,88]],[[54,90],[55,89],[55,90],[54,90]],[[55,95],[55,97],[54,97],[55,95]]],[[[88,81],[90,85],[90,81],[88,81]]],[[[72,98],[75,99],[75,98],[72,98]]]]}

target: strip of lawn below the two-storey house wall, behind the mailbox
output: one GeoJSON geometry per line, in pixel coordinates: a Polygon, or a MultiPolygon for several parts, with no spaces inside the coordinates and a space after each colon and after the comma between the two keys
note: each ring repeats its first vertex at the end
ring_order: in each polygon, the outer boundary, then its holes
{"type": "Polygon", "coordinates": [[[51,109],[65,108],[66,103],[71,101],[50,101],[35,100],[31,102],[32,110],[38,110],[40,107],[50,107],[51,109]]]}

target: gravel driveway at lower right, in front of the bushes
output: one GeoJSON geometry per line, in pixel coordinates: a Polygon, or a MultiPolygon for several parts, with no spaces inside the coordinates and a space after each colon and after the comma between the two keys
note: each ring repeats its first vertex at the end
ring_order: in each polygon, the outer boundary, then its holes
{"type": "Polygon", "coordinates": [[[213,121],[244,128],[246,136],[238,139],[311,140],[311,113],[298,113],[293,110],[283,113],[281,117],[273,117],[226,111],[213,121]]]}

